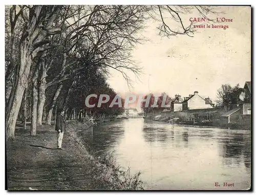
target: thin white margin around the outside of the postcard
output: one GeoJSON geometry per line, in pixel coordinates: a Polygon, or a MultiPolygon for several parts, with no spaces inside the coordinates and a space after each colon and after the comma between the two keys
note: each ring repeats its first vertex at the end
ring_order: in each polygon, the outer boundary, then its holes
{"type": "MultiPolygon", "coordinates": [[[[90,5],[96,5],[96,4],[109,4],[109,5],[113,5],[113,4],[122,4],[122,5],[142,5],[142,4],[147,4],[147,5],[191,5],[191,3],[193,3],[193,5],[252,5],[252,7],[254,7],[254,1],[237,1],[237,0],[233,0],[233,1],[220,1],[220,0],[216,0],[216,1],[193,1],[193,2],[188,2],[188,1],[184,1],[184,0],[179,0],[179,1],[152,1],[152,0],[148,0],[148,1],[133,1],[133,0],[123,0],[123,1],[117,1],[117,0],[112,0],[112,1],[99,1],[99,0],[88,0],[88,1],[81,1],[81,0],[73,0],[73,1],[67,1],[67,2],[64,2],[63,0],[60,1],[60,0],[45,0],[45,1],[31,1],[31,0],[27,0],[27,1],[3,1],[2,2],[2,5],[1,5],[1,9],[0,9],[0,13],[1,13],[1,26],[3,27],[2,28],[2,31],[1,31],[1,37],[2,37],[2,40],[5,41],[4,37],[5,37],[5,5],[24,5],[24,4],[30,4],[30,5],[53,5],[53,4],[59,4],[59,5],[68,5],[68,4],[72,4],[72,5],[75,5],[75,4],[90,4],[90,5]],[[188,3],[188,4],[187,4],[188,3]]],[[[255,21],[255,7],[254,7],[254,14],[253,14],[253,21],[255,21]]],[[[255,32],[255,25],[253,26],[253,32],[255,32]]],[[[2,191],[5,189],[5,44],[2,45],[1,47],[1,55],[2,57],[0,59],[2,59],[2,66],[1,66],[1,74],[3,74],[1,77],[0,77],[0,85],[1,85],[1,91],[3,92],[3,95],[1,96],[1,99],[2,99],[2,103],[0,104],[0,110],[2,111],[1,112],[1,116],[0,117],[0,120],[1,120],[1,124],[3,125],[2,126],[2,141],[1,141],[1,164],[2,164],[2,169],[1,169],[1,192],[4,192],[4,193],[7,193],[7,191],[2,191]]],[[[255,56],[255,50],[253,50],[253,56],[255,56]]],[[[253,61],[252,61],[253,62],[253,61]]],[[[255,77],[255,69],[253,70],[253,75],[255,77]]],[[[254,77],[253,77],[253,85],[254,86],[254,77]]],[[[254,88],[253,88],[253,92],[254,92],[254,88]]],[[[256,102],[255,101],[255,94],[254,94],[254,97],[253,97],[253,102],[256,102]]],[[[253,104],[254,105],[254,104],[253,104]]],[[[253,106],[253,111],[254,111],[254,106],[253,106]]],[[[253,112],[253,121],[255,119],[255,114],[253,112]]],[[[253,131],[254,129],[252,129],[253,131]]],[[[255,140],[255,132],[253,133],[253,140],[255,140]]],[[[255,145],[255,144],[253,144],[255,145]]],[[[253,148],[253,151],[254,151],[254,148],[253,148]]],[[[255,163],[254,161],[252,160],[253,162],[253,167],[255,169],[255,163]]],[[[253,173],[252,173],[253,174],[253,173]]],[[[253,180],[253,187],[254,187],[254,191],[255,191],[255,179],[253,180]]],[[[184,192],[184,191],[183,191],[184,192]]],[[[191,191],[190,191],[191,192],[191,191]]],[[[185,194],[186,193],[190,193],[190,192],[184,192],[185,194]]],[[[208,193],[214,193],[215,191],[212,191],[212,192],[208,192],[208,193]]],[[[18,194],[20,192],[15,192],[15,194],[18,194]]],[[[26,192],[25,192],[26,193],[26,192]]],[[[37,193],[39,194],[39,192],[34,192],[34,193],[37,193]]],[[[54,193],[54,192],[47,192],[47,193],[54,193]]],[[[77,192],[68,192],[70,194],[73,194],[73,193],[77,193],[77,192]]],[[[100,192],[84,192],[84,193],[100,193],[100,192]]],[[[113,193],[113,192],[106,192],[106,193],[113,193]]],[[[118,193],[121,193],[121,192],[118,192],[118,193]]],[[[126,192],[127,193],[127,192],[126,192]]],[[[129,192],[131,193],[131,192],[129,192]]],[[[154,192],[154,193],[163,193],[163,192],[154,192]]],[[[166,192],[165,192],[166,193],[166,192]]],[[[180,193],[180,192],[173,192],[173,191],[169,191],[167,193],[172,193],[172,194],[176,194],[176,193],[180,193]]],[[[182,193],[182,194],[184,194],[182,193]]],[[[196,192],[197,193],[197,192],[196,192]]],[[[204,193],[204,192],[203,192],[204,193]]],[[[228,192],[218,192],[218,193],[228,193],[228,192]]],[[[233,191],[231,193],[237,193],[236,191],[233,191]]],[[[241,192],[239,192],[241,193],[241,192]]],[[[245,193],[245,192],[243,192],[245,193]]],[[[248,193],[248,192],[247,192],[248,193]]],[[[254,192],[253,192],[254,193],[254,192]]],[[[58,194],[67,194],[67,192],[60,192],[58,194]]],[[[230,194],[230,192],[229,192],[230,194]]]]}

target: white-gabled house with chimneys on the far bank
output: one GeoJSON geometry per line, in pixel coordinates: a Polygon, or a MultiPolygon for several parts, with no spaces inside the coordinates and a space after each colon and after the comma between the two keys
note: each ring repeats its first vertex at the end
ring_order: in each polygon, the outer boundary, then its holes
{"type": "Polygon", "coordinates": [[[198,92],[195,91],[194,95],[189,95],[189,97],[185,97],[182,102],[182,110],[196,110],[196,109],[212,109],[212,102],[206,98],[203,99],[198,95],[198,92]]]}

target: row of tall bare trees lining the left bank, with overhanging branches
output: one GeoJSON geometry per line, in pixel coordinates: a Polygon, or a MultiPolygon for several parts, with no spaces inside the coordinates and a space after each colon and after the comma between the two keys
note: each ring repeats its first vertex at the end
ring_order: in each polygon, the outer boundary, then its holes
{"type": "Polygon", "coordinates": [[[130,84],[126,70],[141,72],[131,51],[145,40],[139,34],[145,21],[160,21],[161,36],[191,36],[191,24],[186,27],[181,15],[192,9],[203,15],[212,12],[208,6],[7,6],[7,138],[14,138],[18,116],[29,115],[35,136],[43,117],[51,124],[58,105],[68,112],[83,109],[83,97],[92,89],[110,90],[106,85],[110,69],[130,84]],[[169,27],[169,19],[179,27],[169,27]]]}

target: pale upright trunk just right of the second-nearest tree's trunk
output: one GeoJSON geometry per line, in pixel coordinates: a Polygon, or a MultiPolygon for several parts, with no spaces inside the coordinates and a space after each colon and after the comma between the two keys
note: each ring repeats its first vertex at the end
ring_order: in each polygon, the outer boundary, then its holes
{"type": "Polygon", "coordinates": [[[42,114],[46,102],[46,63],[41,63],[39,86],[38,86],[38,106],[37,106],[37,124],[42,125],[42,114]]]}

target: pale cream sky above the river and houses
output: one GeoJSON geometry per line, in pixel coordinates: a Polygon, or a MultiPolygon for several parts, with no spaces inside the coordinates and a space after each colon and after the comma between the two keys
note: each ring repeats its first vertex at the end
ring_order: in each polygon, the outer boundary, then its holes
{"type": "MultiPolygon", "coordinates": [[[[217,90],[222,84],[243,88],[251,80],[251,10],[250,7],[221,6],[212,19],[228,18],[232,22],[198,24],[228,25],[224,29],[198,28],[194,37],[177,35],[160,37],[158,22],[149,20],[143,32],[149,41],[137,45],[133,59],[143,69],[140,80],[128,73],[133,80],[129,89],[122,75],[111,70],[108,79],[118,94],[167,93],[170,97],[179,94],[186,97],[198,91],[203,98],[216,100],[217,90]]],[[[198,12],[183,15],[189,25],[190,17],[201,17],[198,12]]],[[[171,25],[176,25],[172,20],[171,25]]],[[[198,25],[196,24],[196,25],[198,25]]]]}

